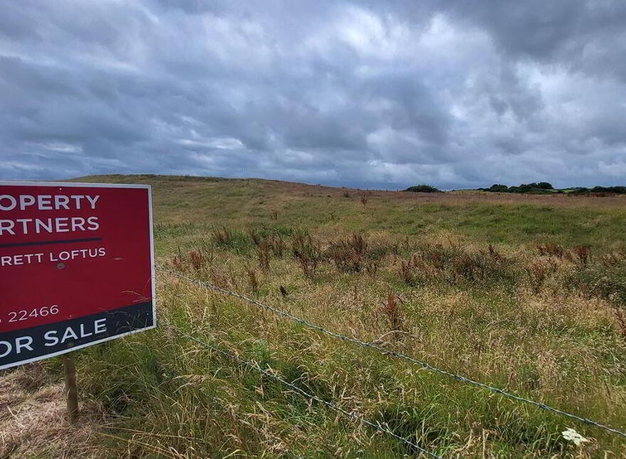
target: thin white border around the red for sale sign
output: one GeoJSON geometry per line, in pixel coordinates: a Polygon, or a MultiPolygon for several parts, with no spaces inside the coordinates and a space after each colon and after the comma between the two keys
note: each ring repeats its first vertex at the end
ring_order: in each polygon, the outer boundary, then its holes
{"type": "MultiPolygon", "coordinates": [[[[132,330],[121,334],[116,334],[112,337],[98,339],[97,341],[89,342],[86,344],[80,344],[80,346],[70,347],[69,349],[63,349],[62,351],[53,352],[52,354],[46,354],[40,357],[34,357],[33,359],[21,360],[8,365],[0,365],[0,370],[14,368],[23,364],[30,364],[32,362],[38,362],[39,360],[49,359],[58,355],[67,354],[68,352],[78,351],[83,347],[90,347],[94,344],[100,344],[105,341],[111,341],[112,339],[126,337],[129,334],[135,334],[139,332],[145,332],[146,330],[157,327],[157,289],[156,289],[156,276],[154,273],[154,225],[152,222],[152,185],[147,184],[102,184],[102,183],[85,183],[78,181],[28,181],[28,180],[0,180],[1,186],[80,186],[90,188],[139,188],[148,190],[148,212],[149,212],[149,224],[150,224],[150,264],[152,272],[152,326],[132,330]]],[[[54,323],[54,322],[52,322],[54,323]]]]}

